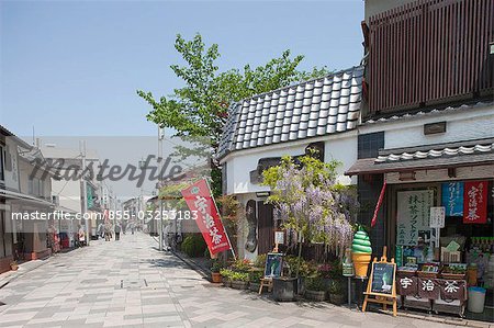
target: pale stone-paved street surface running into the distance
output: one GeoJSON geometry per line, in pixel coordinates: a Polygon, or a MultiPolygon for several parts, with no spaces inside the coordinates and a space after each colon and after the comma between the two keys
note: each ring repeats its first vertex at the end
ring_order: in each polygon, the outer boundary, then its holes
{"type": "Polygon", "coordinates": [[[0,289],[0,327],[453,327],[283,303],[205,281],[144,234],[57,255],[0,289]]]}

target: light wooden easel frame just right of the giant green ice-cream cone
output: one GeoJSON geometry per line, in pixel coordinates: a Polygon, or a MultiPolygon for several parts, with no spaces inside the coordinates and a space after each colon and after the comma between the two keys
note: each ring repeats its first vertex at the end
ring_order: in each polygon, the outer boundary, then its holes
{"type": "Polygon", "coordinates": [[[363,293],[366,295],[363,299],[363,306],[362,312],[366,312],[367,304],[368,303],[378,303],[382,304],[382,308],[384,310],[388,309],[388,305],[393,306],[393,317],[397,315],[397,296],[396,296],[396,263],[394,262],[394,259],[391,259],[391,262],[388,262],[386,257],[386,247],[383,248],[383,256],[381,257],[380,261],[378,262],[378,258],[374,258],[374,260],[371,263],[371,274],[369,276],[369,283],[367,285],[367,292],[363,293]],[[394,274],[393,274],[393,285],[391,287],[391,294],[384,294],[384,293],[375,293],[372,292],[372,280],[373,280],[373,271],[374,271],[374,263],[388,263],[394,265],[394,274]]]}

